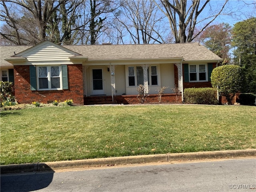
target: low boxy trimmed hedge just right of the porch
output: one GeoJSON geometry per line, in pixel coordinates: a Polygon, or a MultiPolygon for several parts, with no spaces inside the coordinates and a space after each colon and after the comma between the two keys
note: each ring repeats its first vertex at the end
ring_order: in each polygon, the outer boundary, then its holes
{"type": "Polygon", "coordinates": [[[184,89],[184,102],[216,105],[218,104],[217,91],[214,88],[186,88],[184,89]]]}

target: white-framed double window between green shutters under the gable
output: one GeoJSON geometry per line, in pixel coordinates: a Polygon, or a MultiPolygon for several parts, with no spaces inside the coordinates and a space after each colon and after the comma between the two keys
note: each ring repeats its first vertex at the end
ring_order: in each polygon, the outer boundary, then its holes
{"type": "Polygon", "coordinates": [[[38,90],[61,90],[62,71],[60,66],[38,66],[37,87],[38,90]]]}

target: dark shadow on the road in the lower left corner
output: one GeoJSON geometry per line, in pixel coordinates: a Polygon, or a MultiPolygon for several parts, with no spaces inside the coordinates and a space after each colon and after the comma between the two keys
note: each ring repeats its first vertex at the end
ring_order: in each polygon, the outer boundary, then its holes
{"type": "Polygon", "coordinates": [[[2,174],[1,171],[1,192],[29,192],[46,188],[52,182],[54,171],[51,170],[46,164],[42,166],[46,167],[47,171],[11,174],[2,174]]]}

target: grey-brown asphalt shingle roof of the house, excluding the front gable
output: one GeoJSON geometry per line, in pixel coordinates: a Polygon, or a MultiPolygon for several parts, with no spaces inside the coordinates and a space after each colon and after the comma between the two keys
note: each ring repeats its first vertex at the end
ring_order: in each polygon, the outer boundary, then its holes
{"type": "MultiPolygon", "coordinates": [[[[10,65],[4,58],[22,52],[32,46],[0,46],[0,64],[10,65]]],[[[213,52],[198,43],[180,44],[128,44],[128,45],[63,45],[88,60],[184,58],[184,61],[221,60],[213,52]]]]}

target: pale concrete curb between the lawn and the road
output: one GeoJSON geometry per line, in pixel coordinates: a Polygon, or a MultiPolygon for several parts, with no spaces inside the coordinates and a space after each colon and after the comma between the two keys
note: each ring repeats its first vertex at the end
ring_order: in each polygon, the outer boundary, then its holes
{"type": "Polygon", "coordinates": [[[99,159],[86,159],[74,161],[45,162],[32,164],[3,165],[0,167],[1,174],[17,172],[34,172],[45,170],[58,170],[69,168],[83,168],[106,165],[138,164],[150,162],[167,162],[177,160],[196,160],[196,159],[214,159],[214,158],[234,158],[234,157],[252,157],[256,156],[256,149],[248,150],[226,150],[210,152],[192,152],[192,153],[168,153],[156,155],[141,155],[127,157],[109,157],[99,159]]]}

